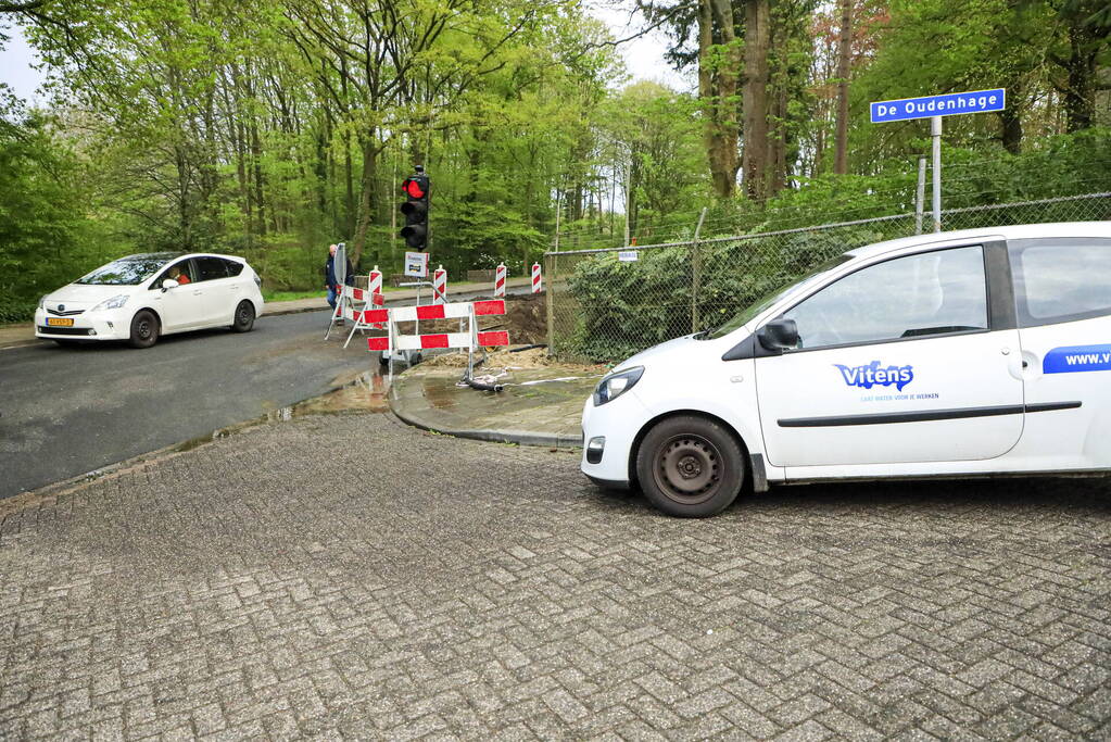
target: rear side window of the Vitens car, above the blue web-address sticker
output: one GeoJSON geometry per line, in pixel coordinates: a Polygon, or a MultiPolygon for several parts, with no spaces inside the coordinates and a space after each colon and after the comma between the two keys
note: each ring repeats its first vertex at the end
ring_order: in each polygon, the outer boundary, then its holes
{"type": "Polygon", "coordinates": [[[1019,327],[1111,314],[1111,240],[1013,240],[1019,327]]]}

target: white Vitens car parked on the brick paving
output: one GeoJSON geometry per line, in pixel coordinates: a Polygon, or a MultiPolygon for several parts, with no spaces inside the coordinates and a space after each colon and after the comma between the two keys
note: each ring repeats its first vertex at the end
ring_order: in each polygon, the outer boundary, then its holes
{"type": "Polygon", "coordinates": [[[621,363],[582,471],[673,515],[742,485],[1111,472],[1111,223],[850,250],[621,363]]]}

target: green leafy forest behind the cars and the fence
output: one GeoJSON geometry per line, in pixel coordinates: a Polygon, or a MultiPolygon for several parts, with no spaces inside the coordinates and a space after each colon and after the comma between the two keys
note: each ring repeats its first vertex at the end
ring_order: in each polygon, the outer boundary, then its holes
{"type": "MultiPolygon", "coordinates": [[[[433,263],[902,213],[928,122],[868,102],[1007,88],[945,120],[947,208],[1111,191],[1105,0],[638,0],[695,90],[630,83],[577,0],[0,0],[49,70],[0,86],[0,321],[117,257],[217,251],[319,290],[326,247],[433,263]],[[558,235],[558,237],[557,237],[558,235]]],[[[0,37],[0,44],[6,38],[0,37]]]]}

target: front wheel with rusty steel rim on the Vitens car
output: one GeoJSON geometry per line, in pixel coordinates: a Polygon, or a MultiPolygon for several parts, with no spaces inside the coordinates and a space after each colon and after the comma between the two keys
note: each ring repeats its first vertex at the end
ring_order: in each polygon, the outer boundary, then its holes
{"type": "Polygon", "coordinates": [[[697,415],[669,418],[644,437],[637,477],[659,510],[705,518],[724,510],[744,483],[744,452],[720,423],[697,415]]]}

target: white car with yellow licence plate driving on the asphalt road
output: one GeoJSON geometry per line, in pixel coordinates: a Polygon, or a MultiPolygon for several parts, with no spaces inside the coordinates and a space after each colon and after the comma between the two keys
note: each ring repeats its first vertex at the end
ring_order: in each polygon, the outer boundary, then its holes
{"type": "Polygon", "coordinates": [[[233,255],[153,252],[101,265],[39,300],[34,334],[60,344],[159,337],[228,327],[248,332],[262,314],[261,279],[233,255]]]}

